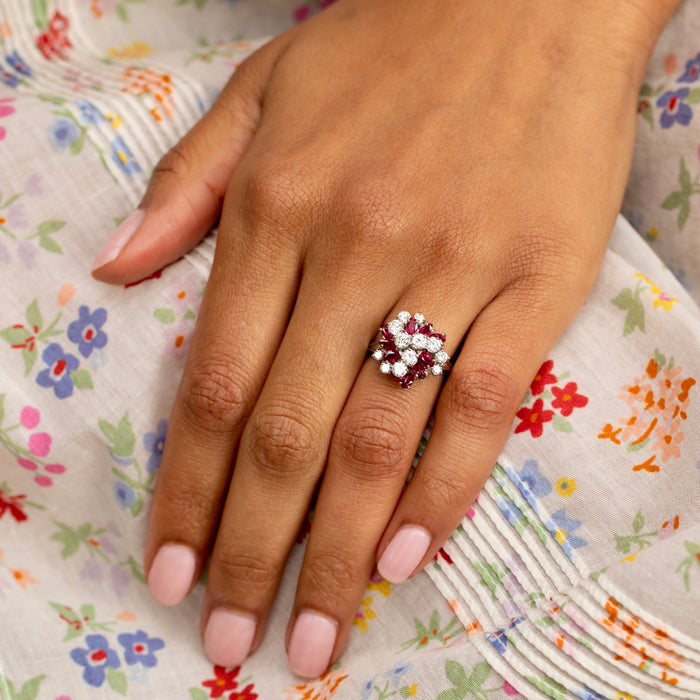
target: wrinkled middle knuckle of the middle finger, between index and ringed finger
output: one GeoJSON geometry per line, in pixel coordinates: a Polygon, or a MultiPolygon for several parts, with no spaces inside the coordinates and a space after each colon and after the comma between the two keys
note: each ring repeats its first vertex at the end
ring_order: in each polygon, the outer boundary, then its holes
{"type": "Polygon", "coordinates": [[[298,410],[266,409],[254,413],[244,434],[252,464],[278,480],[311,470],[319,458],[316,431],[298,410]]]}

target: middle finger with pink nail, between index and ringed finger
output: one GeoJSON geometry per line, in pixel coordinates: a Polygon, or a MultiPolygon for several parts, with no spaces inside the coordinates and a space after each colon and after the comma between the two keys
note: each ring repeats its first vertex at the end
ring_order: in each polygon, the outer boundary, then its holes
{"type": "Polygon", "coordinates": [[[356,309],[366,300],[355,304],[348,294],[319,309],[325,286],[302,280],[241,438],[202,610],[204,648],[222,666],[240,664],[262,639],[333,425],[365,359],[367,339],[382,320],[366,315],[358,326],[356,309]]]}

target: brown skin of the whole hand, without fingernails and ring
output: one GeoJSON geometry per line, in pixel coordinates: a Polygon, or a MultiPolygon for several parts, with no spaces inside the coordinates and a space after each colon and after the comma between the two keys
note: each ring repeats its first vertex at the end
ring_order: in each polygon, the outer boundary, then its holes
{"type": "Polygon", "coordinates": [[[211,555],[203,629],[242,612],[259,645],[319,483],[289,630],[303,609],[337,621],[331,661],[397,530],[430,534],[415,573],[459,524],[595,281],[676,4],[339,0],[163,158],[94,276],[142,278],[220,219],[145,553],[148,572],[191,547],[192,586],[211,555]],[[366,357],[402,309],[463,343],[443,383],[402,390],[366,357]]]}

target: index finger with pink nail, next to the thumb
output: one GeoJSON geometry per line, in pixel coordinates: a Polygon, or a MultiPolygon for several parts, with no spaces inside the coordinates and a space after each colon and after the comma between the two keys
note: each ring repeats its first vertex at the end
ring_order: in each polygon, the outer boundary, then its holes
{"type": "Polygon", "coordinates": [[[299,254],[279,256],[266,242],[269,234],[247,234],[233,199],[224,209],[151,506],[144,564],[151,594],[166,605],[178,603],[202,570],[240,434],[298,284],[299,254]]]}

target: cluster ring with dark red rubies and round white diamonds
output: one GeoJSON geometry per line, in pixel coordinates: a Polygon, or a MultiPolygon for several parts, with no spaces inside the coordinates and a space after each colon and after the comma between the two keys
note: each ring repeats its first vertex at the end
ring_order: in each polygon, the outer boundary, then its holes
{"type": "Polygon", "coordinates": [[[437,332],[423,314],[401,311],[379,329],[379,342],[370,348],[382,374],[394,377],[404,389],[428,374],[438,376],[450,368],[442,349],[445,334],[437,332]]]}

